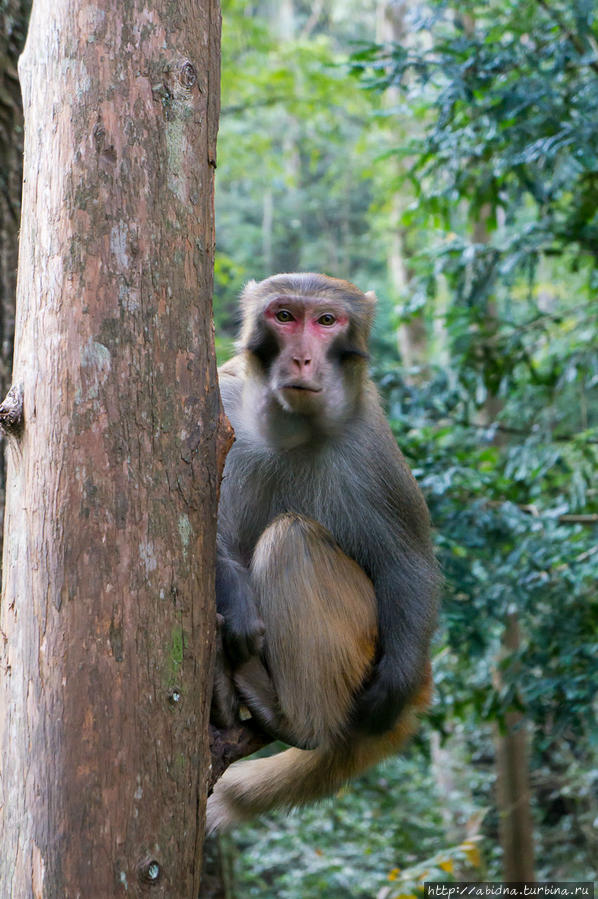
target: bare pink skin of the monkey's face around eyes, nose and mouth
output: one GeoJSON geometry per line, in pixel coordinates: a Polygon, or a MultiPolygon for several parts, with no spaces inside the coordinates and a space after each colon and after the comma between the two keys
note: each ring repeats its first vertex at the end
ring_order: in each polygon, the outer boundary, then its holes
{"type": "Polygon", "coordinates": [[[281,296],[268,303],[264,318],[280,346],[278,389],[319,393],[328,350],[349,327],[345,309],[327,299],[281,296]]]}

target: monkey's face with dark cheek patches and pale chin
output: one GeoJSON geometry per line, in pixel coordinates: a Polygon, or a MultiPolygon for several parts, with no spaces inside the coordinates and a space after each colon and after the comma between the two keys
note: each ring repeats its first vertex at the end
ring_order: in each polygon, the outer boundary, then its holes
{"type": "Polygon", "coordinates": [[[325,297],[277,296],[264,306],[261,325],[268,386],[282,408],[326,421],[343,414],[346,306],[325,297]]]}

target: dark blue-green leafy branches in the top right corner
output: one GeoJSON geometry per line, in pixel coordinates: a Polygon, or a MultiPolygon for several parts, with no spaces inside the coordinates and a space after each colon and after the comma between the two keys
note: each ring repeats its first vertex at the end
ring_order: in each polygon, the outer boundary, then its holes
{"type": "Polygon", "coordinates": [[[365,49],[354,64],[371,84],[399,84],[421,114],[434,105],[424,136],[397,149],[413,160],[409,179],[425,195],[424,214],[450,221],[464,197],[472,220],[487,210],[496,225],[503,211],[513,227],[481,261],[488,288],[518,268],[525,271],[545,252],[573,248],[576,265],[593,266],[594,5],[466,0],[456,10],[437,2],[423,8],[412,29],[425,32],[427,46],[365,49]],[[528,204],[532,214],[522,216],[528,204]],[[501,267],[507,256],[509,265],[501,267]]]}

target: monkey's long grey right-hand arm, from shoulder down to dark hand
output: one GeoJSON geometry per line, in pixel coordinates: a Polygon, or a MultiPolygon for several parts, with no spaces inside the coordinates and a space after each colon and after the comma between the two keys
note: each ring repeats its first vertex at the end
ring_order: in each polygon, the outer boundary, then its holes
{"type": "Polygon", "coordinates": [[[378,639],[373,669],[358,694],[355,726],[380,734],[394,725],[427,677],[429,643],[436,623],[440,576],[430,516],[373,385],[368,387],[367,428],[357,430],[353,468],[365,485],[360,553],[356,560],[376,594],[378,639]]]}

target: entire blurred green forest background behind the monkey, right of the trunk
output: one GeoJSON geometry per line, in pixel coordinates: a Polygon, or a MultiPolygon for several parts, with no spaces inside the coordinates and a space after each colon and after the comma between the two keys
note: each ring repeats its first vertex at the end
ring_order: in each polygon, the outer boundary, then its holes
{"type": "Polygon", "coordinates": [[[220,358],[249,278],[374,289],[374,376],[446,578],[421,735],[229,838],[230,895],[595,880],[596,4],[222,11],[220,358]]]}

